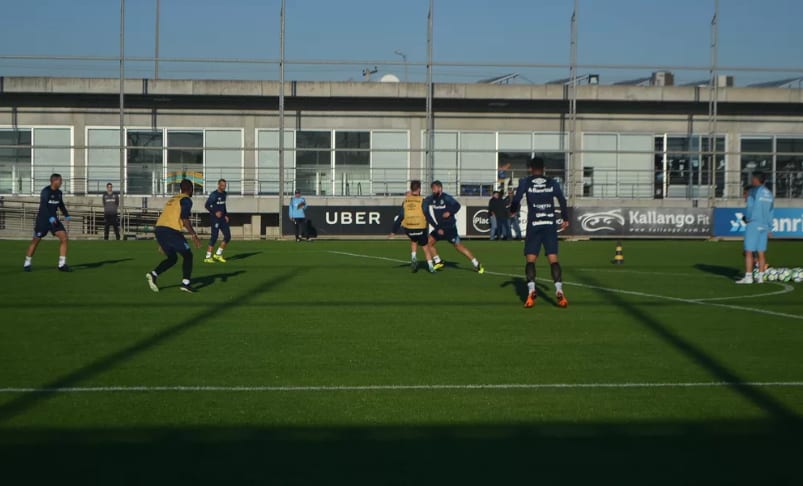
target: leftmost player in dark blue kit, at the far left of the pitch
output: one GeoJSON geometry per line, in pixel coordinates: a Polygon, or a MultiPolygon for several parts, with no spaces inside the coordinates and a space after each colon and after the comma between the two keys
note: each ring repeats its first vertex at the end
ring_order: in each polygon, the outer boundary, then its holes
{"type": "Polygon", "coordinates": [[[67,265],[67,230],[64,229],[64,225],[61,224],[58,218],[58,210],[61,210],[64,219],[67,221],[71,219],[70,213],[67,212],[67,207],[64,206],[61,182],[60,174],[51,175],[50,185],[42,189],[42,193],[39,196],[39,212],[36,214],[33,239],[28,246],[28,252],[25,254],[25,264],[22,267],[26,272],[31,271],[31,261],[34,253],[36,253],[36,248],[48,233],[53,233],[59,239],[58,269],[62,272],[70,271],[70,267],[67,265]]]}

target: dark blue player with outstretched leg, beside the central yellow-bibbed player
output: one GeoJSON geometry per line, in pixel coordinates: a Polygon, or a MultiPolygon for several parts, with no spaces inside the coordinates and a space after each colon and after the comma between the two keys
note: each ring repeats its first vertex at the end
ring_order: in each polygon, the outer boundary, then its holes
{"type": "Polygon", "coordinates": [[[429,224],[435,228],[429,235],[428,243],[430,252],[432,252],[432,259],[435,262],[435,270],[440,270],[445,266],[440,256],[438,256],[438,250],[435,248],[439,241],[445,240],[454,245],[455,250],[471,261],[474,271],[479,274],[485,273],[485,268],[474,258],[471,251],[460,242],[460,235],[457,234],[455,214],[460,211],[460,203],[443,192],[441,181],[433,182],[431,187],[432,195],[424,199],[424,214],[427,216],[429,224]]]}

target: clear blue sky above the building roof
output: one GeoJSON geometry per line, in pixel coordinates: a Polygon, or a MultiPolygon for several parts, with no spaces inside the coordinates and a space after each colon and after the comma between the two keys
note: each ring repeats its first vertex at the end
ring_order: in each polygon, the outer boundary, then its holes
{"type": "MultiPolygon", "coordinates": [[[[0,55],[108,55],[118,53],[116,0],[5,1],[0,55]]],[[[161,0],[164,57],[275,58],[278,0],[161,0]]],[[[127,1],[127,54],[152,56],[156,0],[127,1]]],[[[400,60],[426,58],[428,0],[288,0],[290,59],[400,60]]],[[[435,57],[440,61],[567,63],[572,0],[436,0],[435,57]]],[[[579,59],[587,64],[702,65],[709,62],[713,0],[581,0],[579,59]]],[[[724,66],[803,67],[799,0],[721,0],[720,63],[724,66]]],[[[290,66],[291,79],[361,79],[368,67],[290,66]]],[[[400,66],[380,72],[402,77],[400,66]]],[[[275,68],[165,64],[167,77],[273,78],[275,68]]],[[[114,75],[116,65],[0,60],[0,75],[114,75]]],[[[152,65],[129,65],[148,76],[152,65]]],[[[563,69],[441,68],[439,80],[474,81],[509,71],[543,82],[563,69]]],[[[600,70],[597,70],[600,71],[600,70]]],[[[413,80],[423,68],[410,67],[413,80]]],[[[603,82],[642,72],[600,72],[603,82]]],[[[677,72],[681,80],[705,73],[677,72]]],[[[737,73],[737,81],[790,75],[737,73]]]]}

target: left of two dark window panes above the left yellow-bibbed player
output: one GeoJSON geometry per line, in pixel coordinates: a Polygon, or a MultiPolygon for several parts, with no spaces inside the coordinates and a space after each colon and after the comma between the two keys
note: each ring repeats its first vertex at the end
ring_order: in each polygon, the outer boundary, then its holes
{"type": "Polygon", "coordinates": [[[127,192],[130,194],[163,194],[162,131],[129,130],[126,161],[127,192]]]}

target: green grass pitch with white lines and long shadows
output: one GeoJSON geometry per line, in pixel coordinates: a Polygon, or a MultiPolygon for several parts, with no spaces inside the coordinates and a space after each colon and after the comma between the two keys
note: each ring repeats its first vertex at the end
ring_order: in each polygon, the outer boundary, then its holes
{"type": "Polygon", "coordinates": [[[180,265],[148,290],[154,242],[71,242],[70,274],[25,246],[3,484],[803,481],[803,284],[734,285],[737,242],[564,242],[570,307],[539,262],[530,310],[520,243],[467,242],[485,275],[441,244],[430,275],[402,239],[234,241],[193,295],[180,265]]]}

